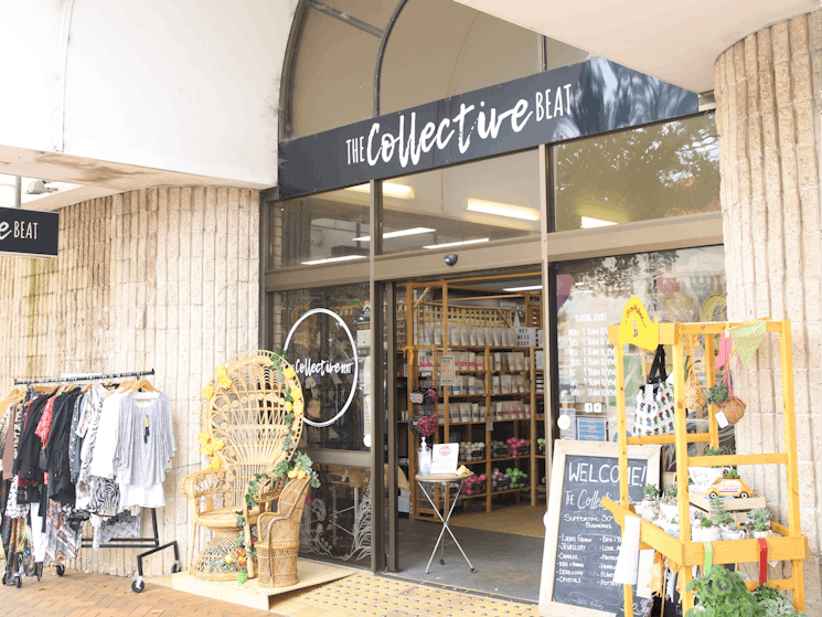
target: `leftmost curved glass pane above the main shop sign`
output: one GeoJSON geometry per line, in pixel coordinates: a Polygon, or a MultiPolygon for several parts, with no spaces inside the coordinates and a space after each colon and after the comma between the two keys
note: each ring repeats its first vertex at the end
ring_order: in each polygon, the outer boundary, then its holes
{"type": "Polygon", "coordinates": [[[280,139],[373,115],[374,62],[393,9],[382,0],[308,3],[292,66],[290,117],[280,139]]]}

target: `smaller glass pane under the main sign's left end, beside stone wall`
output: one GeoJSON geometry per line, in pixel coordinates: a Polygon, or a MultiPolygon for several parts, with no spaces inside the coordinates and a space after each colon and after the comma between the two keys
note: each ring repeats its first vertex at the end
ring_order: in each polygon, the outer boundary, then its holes
{"type": "Polygon", "coordinates": [[[268,268],[369,257],[369,185],[271,204],[268,268]]]}

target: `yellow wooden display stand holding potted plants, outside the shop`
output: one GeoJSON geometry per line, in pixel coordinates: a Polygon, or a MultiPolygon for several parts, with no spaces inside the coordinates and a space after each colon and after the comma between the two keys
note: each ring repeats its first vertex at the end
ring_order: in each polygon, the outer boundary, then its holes
{"type": "MultiPolygon", "coordinates": [[[[739,326],[732,323],[732,327],[739,326]]],[[[654,549],[666,557],[685,566],[680,570],[683,588],[683,614],[694,606],[693,594],[685,592],[692,579],[691,567],[705,563],[705,549],[702,542],[691,542],[690,498],[688,498],[688,466],[725,466],[725,465],[769,465],[779,464],[787,468],[788,479],[788,525],[771,523],[771,530],[782,538],[769,538],[768,560],[790,561],[792,578],[768,581],[780,589],[793,593],[793,605],[798,610],[804,610],[804,572],[803,560],[808,557],[808,539],[802,535],[799,513],[799,481],[797,470],[797,424],[793,408],[793,357],[791,347],[791,325],[789,320],[768,321],[767,331],[779,336],[779,349],[782,376],[782,418],[784,423],[784,453],[761,455],[727,455],[727,456],[688,456],[687,445],[691,443],[707,444],[718,447],[718,426],[715,419],[716,408],[708,406],[708,433],[688,434],[686,432],[685,392],[685,344],[691,345],[698,337],[704,339],[705,366],[708,386],[716,383],[713,371],[714,336],[725,331],[725,323],[661,323],[660,344],[673,347],[674,369],[674,404],[675,433],[674,435],[654,435],[649,437],[628,437],[624,403],[624,374],[622,345],[619,344],[619,326],[608,328],[609,342],[617,351],[617,412],[619,430],[619,465],[620,465],[620,502],[604,499],[602,506],[608,508],[615,520],[624,526],[626,517],[636,517],[628,500],[628,445],[632,444],[674,444],[676,449],[676,485],[680,504],[680,538],[673,538],[656,525],[642,521],[640,540],[642,549],[654,549]]],[[[766,334],[767,337],[767,334],[766,334]]],[[[737,564],[759,561],[758,540],[734,540],[713,542],[714,564],[737,564]]],[[[755,588],[757,583],[749,582],[748,587],[755,588]]],[[[633,615],[633,599],[630,585],[624,586],[626,616],[633,615]]]]}

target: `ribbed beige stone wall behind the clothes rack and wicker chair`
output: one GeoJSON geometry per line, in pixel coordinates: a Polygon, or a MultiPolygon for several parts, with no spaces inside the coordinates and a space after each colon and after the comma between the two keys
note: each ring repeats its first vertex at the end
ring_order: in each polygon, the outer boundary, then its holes
{"type": "MultiPolygon", "coordinates": [[[[57,258],[0,258],[0,391],[14,377],[154,369],[177,437],[160,539],[177,539],[188,560],[178,482],[201,466],[200,391],[215,365],[258,345],[259,196],[132,191],[63,209],[60,227],[57,258]]],[[[143,535],[150,530],[146,511],[143,535]]],[[[135,554],[86,549],[76,566],[130,575],[135,554]]],[[[147,559],[146,574],[168,574],[172,555],[147,559]]]]}

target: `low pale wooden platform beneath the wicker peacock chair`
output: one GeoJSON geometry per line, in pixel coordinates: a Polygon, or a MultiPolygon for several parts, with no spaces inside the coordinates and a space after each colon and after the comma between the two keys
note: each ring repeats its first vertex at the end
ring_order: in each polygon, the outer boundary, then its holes
{"type": "Polygon", "coordinates": [[[287,592],[293,592],[296,589],[302,589],[303,587],[330,583],[331,581],[356,574],[356,571],[335,567],[333,565],[318,562],[310,562],[307,560],[298,560],[297,574],[300,577],[297,585],[278,588],[260,587],[257,584],[257,578],[252,578],[241,585],[236,581],[203,581],[188,572],[172,574],[170,578],[171,588],[178,592],[185,592],[196,596],[229,602],[247,608],[268,610],[270,598],[274,596],[287,592]]]}

